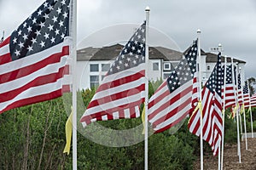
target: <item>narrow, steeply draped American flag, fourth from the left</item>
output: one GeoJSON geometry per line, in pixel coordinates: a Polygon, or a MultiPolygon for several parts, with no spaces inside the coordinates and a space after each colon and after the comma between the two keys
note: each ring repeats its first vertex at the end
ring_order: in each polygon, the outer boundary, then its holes
{"type": "MultiPolygon", "coordinates": [[[[213,155],[218,154],[222,136],[222,99],[221,86],[223,74],[221,69],[221,54],[218,54],[218,62],[211,76],[201,92],[201,105],[203,116],[203,139],[211,145],[213,155]]],[[[201,134],[201,113],[195,112],[189,120],[189,132],[197,136],[201,134]]]]}

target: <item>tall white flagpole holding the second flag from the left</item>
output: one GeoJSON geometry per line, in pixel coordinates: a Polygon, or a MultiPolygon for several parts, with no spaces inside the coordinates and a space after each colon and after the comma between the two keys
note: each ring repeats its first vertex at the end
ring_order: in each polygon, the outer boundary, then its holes
{"type": "Polygon", "coordinates": [[[149,12],[150,12],[150,8],[149,7],[146,7],[145,9],[145,12],[146,12],[146,35],[145,35],[145,38],[146,38],[146,41],[145,41],[145,46],[146,46],[146,51],[145,51],[145,65],[146,65],[146,68],[145,68],[145,133],[144,133],[144,144],[145,144],[145,158],[144,158],[144,169],[145,170],[148,170],[148,22],[149,22],[149,12]]]}

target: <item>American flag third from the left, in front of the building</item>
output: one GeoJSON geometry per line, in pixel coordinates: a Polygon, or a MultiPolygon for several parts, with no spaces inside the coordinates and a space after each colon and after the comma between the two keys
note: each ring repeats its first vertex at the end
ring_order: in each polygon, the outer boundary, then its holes
{"type": "Polygon", "coordinates": [[[148,122],[155,133],[175,126],[189,114],[193,77],[196,71],[197,41],[183,56],[174,71],[148,101],[148,122]]]}

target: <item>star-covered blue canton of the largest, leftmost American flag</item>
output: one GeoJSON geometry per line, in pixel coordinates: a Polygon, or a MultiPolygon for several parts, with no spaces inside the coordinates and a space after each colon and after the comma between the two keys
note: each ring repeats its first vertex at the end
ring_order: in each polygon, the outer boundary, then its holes
{"type": "Polygon", "coordinates": [[[11,35],[12,60],[36,54],[63,42],[68,36],[69,0],[48,0],[11,35]]]}

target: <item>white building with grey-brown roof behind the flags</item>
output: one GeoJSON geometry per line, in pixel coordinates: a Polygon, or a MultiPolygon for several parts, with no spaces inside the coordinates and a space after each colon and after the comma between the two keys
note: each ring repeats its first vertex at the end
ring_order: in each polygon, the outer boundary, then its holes
{"type": "MultiPolygon", "coordinates": [[[[98,86],[122,48],[123,45],[115,44],[102,48],[89,47],[79,49],[77,51],[79,89],[98,86]]],[[[166,79],[183,58],[183,53],[163,47],[149,47],[148,55],[148,79],[150,81],[166,79]]],[[[222,60],[224,62],[224,57],[222,57],[222,60]]],[[[228,58],[228,62],[230,61],[231,59],[228,58]]],[[[201,50],[202,82],[207,81],[216,62],[217,54],[206,53],[201,50]]],[[[241,75],[244,75],[246,62],[239,59],[234,59],[234,62],[238,63],[239,67],[241,67],[241,75]]],[[[243,80],[244,76],[241,77],[241,82],[244,82],[243,80]]]]}

